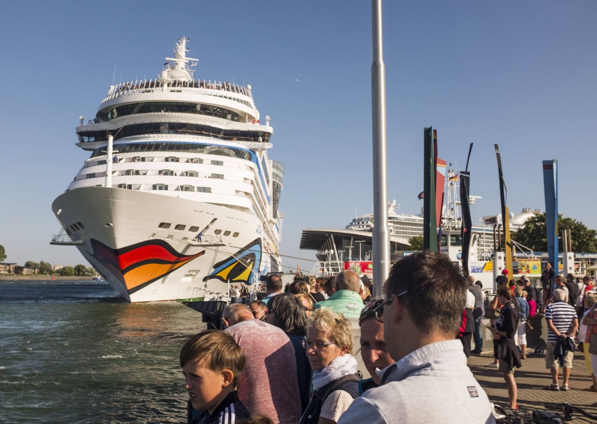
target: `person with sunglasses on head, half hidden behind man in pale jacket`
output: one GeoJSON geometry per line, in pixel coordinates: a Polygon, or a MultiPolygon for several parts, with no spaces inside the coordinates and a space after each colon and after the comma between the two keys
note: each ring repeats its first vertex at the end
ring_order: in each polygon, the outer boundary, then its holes
{"type": "Polygon", "coordinates": [[[359,318],[361,327],[361,358],[371,374],[370,379],[359,381],[359,394],[381,384],[378,370],[383,370],[394,363],[387,351],[383,336],[383,297],[377,297],[365,305],[359,318]],[[381,306],[380,306],[381,305],[381,306]]]}

